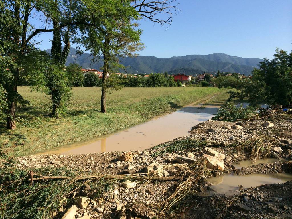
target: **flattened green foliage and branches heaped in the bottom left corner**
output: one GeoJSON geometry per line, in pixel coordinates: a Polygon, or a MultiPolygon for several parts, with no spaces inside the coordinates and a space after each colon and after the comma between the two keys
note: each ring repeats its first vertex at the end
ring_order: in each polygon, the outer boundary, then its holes
{"type": "MultiPolygon", "coordinates": [[[[10,160],[10,162],[13,162],[10,160]]],[[[14,162],[13,162],[14,163],[14,162]]],[[[76,180],[79,171],[65,167],[43,167],[34,169],[34,173],[45,176],[69,176],[68,179],[34,181],[30,185],[29,171],[12,164],[3,163],[0,168],[0,217],[5,219],[43,219],[53,218],[53,212],[66,203],[72,205],[72,191],[79,192],[87,184],[96,190],[94,197],[100,197],[102,192],[109,191],[114,182],[104,179],[76,180]],[[69,199],[70,198],[70,199],[69,199]]],[[[39,175],[34,175],[38,178],[39,175]]]]}

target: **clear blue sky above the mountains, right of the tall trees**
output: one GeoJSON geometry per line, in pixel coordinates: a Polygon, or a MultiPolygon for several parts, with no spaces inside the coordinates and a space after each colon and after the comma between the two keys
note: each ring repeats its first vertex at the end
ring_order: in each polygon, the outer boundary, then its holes
{"type": "MultiPolygon", "coordinates": [[[[292,50],[291,0],[180,0],[178,8],[181,12],[167,29],[140,21],[146,47],[140,55],[169,58],[226,53],[271,59],[276,47],[292,50]]],[[[51,34],[42,34],[39,47],[50,48],[51,38],[51,34]]]]}

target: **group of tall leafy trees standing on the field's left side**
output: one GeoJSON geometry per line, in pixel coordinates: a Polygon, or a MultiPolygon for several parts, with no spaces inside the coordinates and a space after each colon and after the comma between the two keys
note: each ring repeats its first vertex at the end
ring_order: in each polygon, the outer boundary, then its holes
{"type": "Polygon", "coordinates": [[[170,25],[177,6],[176,0],[0,0],[0,114],[6,128],[16,128],[17,105],[27,104],[17,92],[24,82],[47,94],[52,117],[65,114],[75,83],[65,70],[71,43],[79,53],[89,51],[93,62],[103,57],[101,112],[106,113],[107,90],[120,89],[106,74],[124,68],[117,57],[144,48],[138,20],[170,25]],[[53,33],[51,54],[36,41],[48,32],[53,33]]]}

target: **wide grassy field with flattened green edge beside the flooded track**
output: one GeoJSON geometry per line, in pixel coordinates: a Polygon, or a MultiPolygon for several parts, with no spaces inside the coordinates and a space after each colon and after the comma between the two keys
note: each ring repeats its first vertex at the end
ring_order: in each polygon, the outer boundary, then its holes
{"type": "Polygon", "coordinates": [[[7,130],[1,122],[0,147],[8,154],[21,156],[85,141],[224,91],[212,87],[124,88],[107,95],[108,113],[103,114],[100,88],[75,87],[67,117],[52,119],[50,102],[43,93],[19,87],[18,92],[30,105],[18,107],[17,129],[7,130]]]}

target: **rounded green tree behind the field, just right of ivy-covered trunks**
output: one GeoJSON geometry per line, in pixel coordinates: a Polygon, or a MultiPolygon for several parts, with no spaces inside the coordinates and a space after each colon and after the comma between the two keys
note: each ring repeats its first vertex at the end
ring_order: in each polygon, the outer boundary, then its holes
{"type": "Polygon", "coordinates": [[[83,86],[84,76],[81,72],[81,66],[77,64],[69,64],[66,67],[67,77],[70,86],[81,87],[83,86]]]}

